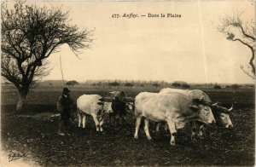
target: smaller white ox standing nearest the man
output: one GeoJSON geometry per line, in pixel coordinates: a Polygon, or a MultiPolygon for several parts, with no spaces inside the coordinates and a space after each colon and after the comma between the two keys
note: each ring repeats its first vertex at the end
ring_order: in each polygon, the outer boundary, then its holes
{"type": "Polygon", "coordinates": [[[100,101],[101,95],[81,95],[77,100],[77,110],[79,117],[79,127],[81,122],[85,128],[86,115],[91,115],[96,131],[103,131],[102,124],[104,123],[104,115],[107,112],[112,112],[111,102],[100,101]]]}

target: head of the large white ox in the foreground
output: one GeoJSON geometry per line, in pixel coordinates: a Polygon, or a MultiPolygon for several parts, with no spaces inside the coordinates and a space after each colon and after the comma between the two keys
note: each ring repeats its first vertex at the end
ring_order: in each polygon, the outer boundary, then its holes
{"type": "Polygon", "coordinates": [[[193,99],[193,105],[190,105],[189,107],[199,112],[199,118],[201,118],[201,122],[205,124],[213,124],[216,123],[215,118],[212,114],[212,109],[207,104],[204,104],[204,102],[201,101],[201,99],[193,99]]]}

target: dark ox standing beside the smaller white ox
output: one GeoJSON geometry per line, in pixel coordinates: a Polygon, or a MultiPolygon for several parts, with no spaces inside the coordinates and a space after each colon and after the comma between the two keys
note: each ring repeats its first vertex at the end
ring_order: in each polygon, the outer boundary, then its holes
{"type": "Polygon", "coordinates": [[[124,91],[112,91],[109,92],[107,97],[103,97],[102,101],[112,102],[113,112],[109,113],[109,119],[113,118],[114,123],[117,123],[118,118],[122,119],[122,122],[125,122],[125,117],[128,112],[132,111],[134,99],[127,97],[124,91]]]}

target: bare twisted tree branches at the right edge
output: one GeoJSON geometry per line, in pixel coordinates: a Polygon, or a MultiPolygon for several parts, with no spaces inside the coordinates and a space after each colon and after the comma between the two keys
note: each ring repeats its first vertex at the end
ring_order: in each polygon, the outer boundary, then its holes
{"type": "Polygon", "coordinates": [[[255,20],[243,22],[241,20],[241,14],[238,13],[233,16],[226,16],[221,20],[218,31],[224,33],[228,40],[238,41],[251,50],[252,55],[247,67],[241,65],[241,70],[253,78],[255,82],[255,20]]]}

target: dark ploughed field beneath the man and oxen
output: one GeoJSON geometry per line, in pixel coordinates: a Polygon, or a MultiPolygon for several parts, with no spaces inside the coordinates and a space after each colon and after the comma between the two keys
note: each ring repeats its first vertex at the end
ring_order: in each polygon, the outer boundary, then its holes
{"type": "MultiPolygon", "coordinates": [[[[74,87],[73,100],[83,94],[107,95],[117,88],[74,87]]],[[[119,88],[122,89],[122,88],[119,88]]],[[[154,88],[125,88],[128,95],[141,91],[157,92],[154,88]]],[[[150,123],[153,141],[147,141],[143,124],[139,138],[133,139],[135,118],[131,113],[124,124],[114,125],[105,119],[104,132],[96,132],[92,118],[87,117],[86,129],[73,124],[72,135],[57,135],[59,119],[55,102],[61,95],[61,87],[34,89],[27,97],[25,112],[16,113],[18,94],[12,87],[2,87],[1,140],[9,164],[15,162],[14,153],[25,162],[33,161],[40,166],[120,166],[120,165],[224,165],[253,166],[255,152],[254,89],[202,89],[212,101],[220,101],[224,107],[234,104],[230,118],[234,128],[227,130],[218,125],[205,128],[204,138],[190,141],[189,124],[177,131],[177,146],[170,146],[170,135],[162,128],[155,134],[155,125],[150,123]]]]}

